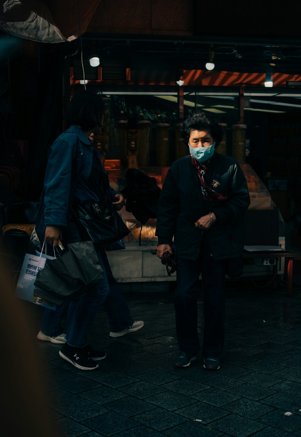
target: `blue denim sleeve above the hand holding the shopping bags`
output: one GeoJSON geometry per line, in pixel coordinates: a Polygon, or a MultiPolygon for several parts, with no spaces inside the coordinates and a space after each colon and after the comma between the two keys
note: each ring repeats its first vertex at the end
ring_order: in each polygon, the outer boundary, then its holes
{"type": "Polygon", "coordinates": [[[46,226],[67,226],[73,149],[62,138],[51,146],[44,179],[46,226]]]}

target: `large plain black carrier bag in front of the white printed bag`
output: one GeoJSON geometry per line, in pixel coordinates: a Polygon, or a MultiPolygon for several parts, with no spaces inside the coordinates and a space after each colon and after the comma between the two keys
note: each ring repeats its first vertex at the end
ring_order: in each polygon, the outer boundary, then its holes
{"type": "Polygon", "coordinates": [[[83,287],[103,279],[92,241],[68,244],[68,251],[55,260],[47,259],[35,280],[34,296],[56,305],[83,293],[83,287]]]}

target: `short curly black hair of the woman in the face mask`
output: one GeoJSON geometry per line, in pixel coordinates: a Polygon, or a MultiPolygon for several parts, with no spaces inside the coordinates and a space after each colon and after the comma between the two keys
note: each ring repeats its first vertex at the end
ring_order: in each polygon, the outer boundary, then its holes
{"type": "Polygon", "coordinates": [[[209,132],[216,146],[223,138],[223,131],[215,118],[208,117],[203,111],[195,111],[183,121],[180,127],[183,142],[188,146],[191,131],[209,132]]]}

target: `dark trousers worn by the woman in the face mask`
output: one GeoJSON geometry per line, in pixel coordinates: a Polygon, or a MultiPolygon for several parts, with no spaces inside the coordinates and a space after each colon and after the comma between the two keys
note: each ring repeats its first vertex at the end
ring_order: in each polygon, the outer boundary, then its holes
{"type": "Polygon", "coordinates": [[[225,266],[214,261],[208,245],[202,242],[195,261],[178,259],[176,263],[176,334],[180,350],[201,350],[197,334],[197,295],[200,292],[199,276],[202,274],[204,290],[204,357],[218,357],[225,341],[225,266]]]}

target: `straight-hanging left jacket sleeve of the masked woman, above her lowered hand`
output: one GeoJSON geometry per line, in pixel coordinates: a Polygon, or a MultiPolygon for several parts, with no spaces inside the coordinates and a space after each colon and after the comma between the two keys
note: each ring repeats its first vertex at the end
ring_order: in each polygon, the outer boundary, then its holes
{"type": "Polygon", "coordinates": [[[172,167],[168,170],[160,193],[156,236],[158,244],[171,244],[179,212],[180,198],[172,167]]]}

